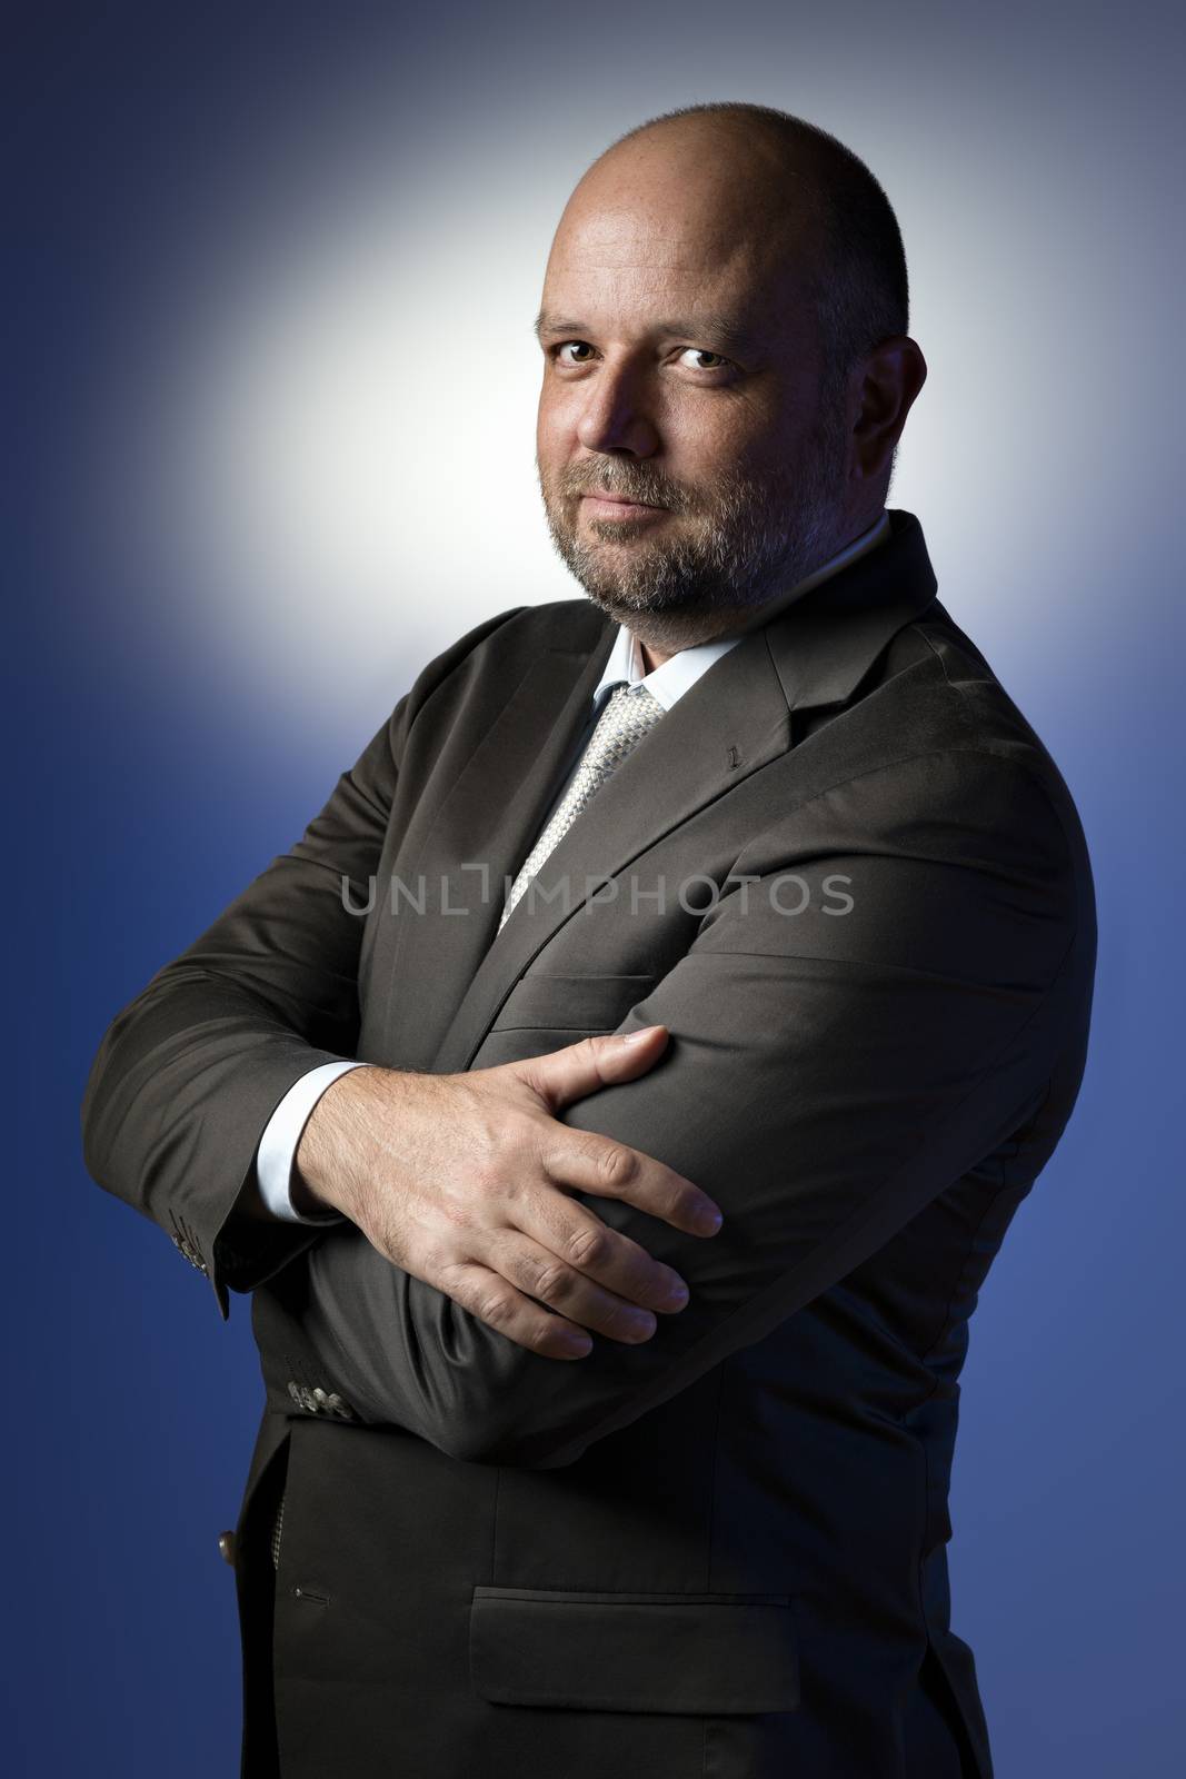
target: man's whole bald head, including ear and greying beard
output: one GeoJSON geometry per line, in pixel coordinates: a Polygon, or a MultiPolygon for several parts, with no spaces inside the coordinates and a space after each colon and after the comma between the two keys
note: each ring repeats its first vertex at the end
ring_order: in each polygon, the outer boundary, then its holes
{"type": "Polygon", "coordinates": [[[868,297],[864,233],[837,272],[869,187],[825,132],[713,105],[621,137],[564,208],[541,489],[567,566],[654,649],[736,628],[882,509],[925,365],[880,331],[900,308],[868,297]]]}

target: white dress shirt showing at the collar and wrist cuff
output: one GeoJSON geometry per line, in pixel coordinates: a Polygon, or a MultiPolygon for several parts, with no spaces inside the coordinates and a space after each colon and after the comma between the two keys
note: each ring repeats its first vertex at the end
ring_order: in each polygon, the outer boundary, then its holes
{"type": "MultiPolygon", "coordinates": [[[[813,587],[818,587],[821,580],[827,580],[829,575],[836,575],[837,569],[848,568],[850,562],[855,562],[857,557],[862,557],[866,550],[873,550],[887,535],[889,535],[889,514],[882,512],[880,518],[875,519],[875,523],[869,525],[868,530],[861,532],[859,537],[853,537],[853,541],[850,544],[845,544],[843,550],[837,550],[836,555],[829,557],[829,560],[823,562],[818,569],[814,569],[804,580],[797,582],[793,587],[788,587],[788,591],[779,598],[759,607],[754,612],[750,624],[743,624],[731,635],[718,637],[715,642],[699,642],[695,648],[681,649],[677,655],[672,655],[669,660],[661,662],[661,665],[654,667],[651,672],[645,672],[644,669],[638,637],[633,635],[633,632],[628,630],[626,624],[619,624],[617,637],[613,639],[613,648],[610,649],[610,656],[605,664],[605,671],[594,688],[592,704],[589,712],[590,724],[596,724],[597,717],[601,715],[603,703],[608,697],[610,690],[615,685],[621,685],[622,681],[626,681],[626,685],[638,685],[638,681],[642,681],[645,688],[660,701],[663,710],[670,710],[672,704],[677,699],[681,699],[690,687],[695,685],[701,674],[708,672],[713,662],[718,662],[722,655],[727,655],[729,649],[736,648],[736,644],[741,640],[741,637],[747,633],[750,626],[768,624],[770,619],[775,617],[793,600],[798,600],[813,587]]],[[[576,763],[573,765],[573,772],[576,772],[576,765],[580,765],[580,754],[576,758],[576,763]]],[[[573,774],[569,774],[569,777],[562,785],[557,799],[553,801],[551,806],[553,809],[562,801],[571,783],[571,777],[573,774]]],[[[548,815],[551,815],[551,811],[548,811],[548,815]]],[[[546,822],[548,817],[544,817],[544,820],[541,822],[541,831],[546,825],[546,822]]],[[[322,1222],[329,1224],[341,1220],[338,1211],[325,1211],[324,1215],[318,1217],[304,1217],[301,1211],[293,1210],[292,1203],[293,1158],[304,1126],[308,1124],[309,1115],[313,1112],[313,1107],[322,1098],[329,1083],[336,1082],[338,1076],[345,1075],[349,1069],[368,1069],[368,1067],[372,1067],[372,1064],[356,1062],[350,1057],[343,1057],[341,1062],[324,1062],[317,1069],[309,1069],[308,1075],[302,1075],[301,1080],[288,1089],[281,1103],[276,1107],[276,1112],[268,1119],[263,1137],[260,1139],[260,1149],[256,1151],[256,1178],[260,1181],[260,1195],[263,1197],[263,1203],[276,1217],[283,1217],[286,1222],[302,1222],[302,1224],[322,1224],[322,1222]]]]}

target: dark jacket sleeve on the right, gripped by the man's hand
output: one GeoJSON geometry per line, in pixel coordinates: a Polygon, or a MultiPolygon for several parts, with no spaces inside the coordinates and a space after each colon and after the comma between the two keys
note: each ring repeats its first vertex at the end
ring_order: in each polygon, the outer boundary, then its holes
{"type": "Polygon", "coordinates": [[[453,1457],[555,1468],[761,1340],[1015,1133],[1085,1041],[1074,859],[1040,781],[987,753],[903,760],[784,815],[622,1019],[670,1028],[661,1060],[560,1114],[720,1204],[697,1238],[576,1194],[690,1304],[638,1347],[548,1359],[345,1224],[256,1293],[268,1389],[304,1370],[453,1457]]]}

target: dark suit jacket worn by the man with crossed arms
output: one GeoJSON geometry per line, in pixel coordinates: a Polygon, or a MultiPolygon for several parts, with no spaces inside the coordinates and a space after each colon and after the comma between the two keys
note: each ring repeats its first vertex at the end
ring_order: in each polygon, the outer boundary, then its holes
{"type": "Polygon", "coordinates": [[[222,1315],[254,1292],[252,1779],[283,1477],[284,1779],[989,1779],[950,1628],[958,1373],[1078,1092],[1094,900],[1054,763],[891,523],[713,664],[500,934],[613,624],[583,598],[478,624],[103,1039],[91,1172],[222,1315]],[[725,1213],[702,1240],[583,1195],[690,1283],[640,1347],[544,1359],[349,1222],[235,1213],[317,1062],[452,1073],[656,1021],[661,1062],[562,1114],[725,1213]]]}

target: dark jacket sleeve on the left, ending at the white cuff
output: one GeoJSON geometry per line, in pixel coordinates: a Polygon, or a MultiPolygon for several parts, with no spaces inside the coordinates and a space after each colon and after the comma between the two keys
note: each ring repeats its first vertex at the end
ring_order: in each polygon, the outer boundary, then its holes
{"type": "Polygon", "coordinates": [[[249,1217],[272,1112],[309,1069],[354,1055],[368,879],[379,868],[400,758],[425,699],[496,624],[430,662],[304,836],[119,1012],[82,1101],[87,1172],[151,1217],[215,1292],[249,1292],[324,1224],[249,1217]]]}

